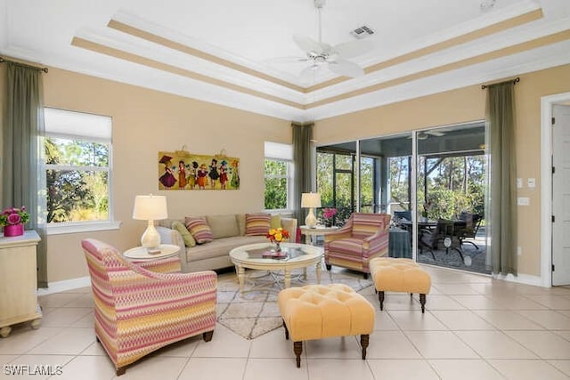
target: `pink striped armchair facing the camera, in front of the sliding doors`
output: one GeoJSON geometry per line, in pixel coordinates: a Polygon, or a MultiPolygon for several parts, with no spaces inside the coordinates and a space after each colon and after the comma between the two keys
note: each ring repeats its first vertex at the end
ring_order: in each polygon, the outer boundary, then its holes
{"type": "Polygon", "coordinates": [[[341,229],[324,237],[327,270],[337,265],[362,271],[367,279],[371,258],[388,254],[389,230],[389,214],[353,213],[341,229]]]}

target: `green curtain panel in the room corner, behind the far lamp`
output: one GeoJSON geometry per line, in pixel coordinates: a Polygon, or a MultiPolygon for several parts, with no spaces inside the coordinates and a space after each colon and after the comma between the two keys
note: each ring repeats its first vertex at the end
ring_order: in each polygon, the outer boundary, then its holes
{"type": "Polygon", "coordinates": [[[301,208],[301,194],[312,190],[312,167],[311,161],[311,140],[313,139],[313,126],[310,124],[291,125],[293,129],[293,162],[295,167],[294,197],[295,197],[295,217],[299,225],[305,223],[305,215],[301,208]]]}

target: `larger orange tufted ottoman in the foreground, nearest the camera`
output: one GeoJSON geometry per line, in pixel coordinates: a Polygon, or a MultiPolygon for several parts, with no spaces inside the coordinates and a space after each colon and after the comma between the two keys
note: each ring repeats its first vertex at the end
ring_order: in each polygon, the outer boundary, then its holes
{"type": "Polygon", "coordinates": [[[374,307],[352,287],[342,284],[306,285],[281,290],[277,303],[285,339],[293,341],[297,368],[301,367],[303,341],[333,336],[360,335],[362,360],[374,330],[374,307]]]}

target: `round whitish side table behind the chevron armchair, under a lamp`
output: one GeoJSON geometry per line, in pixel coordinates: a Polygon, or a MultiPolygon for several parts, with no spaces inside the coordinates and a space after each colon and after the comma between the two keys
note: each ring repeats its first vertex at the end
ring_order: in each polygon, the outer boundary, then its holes
{"type": "Polygon", "coordinates": [[[134,247],[126,250],[123,255],[131,263],[148,270],[160,273],[174,273],[181,271],[180,247],[174,244],[161,244],[158,254],[149,254],[144,247],[134,247]]]}

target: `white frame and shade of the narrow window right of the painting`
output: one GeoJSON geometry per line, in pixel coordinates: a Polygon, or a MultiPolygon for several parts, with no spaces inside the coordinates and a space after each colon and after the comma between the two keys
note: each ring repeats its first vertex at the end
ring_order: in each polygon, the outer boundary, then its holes
{"type": "MultiPolygon", "coordinates": [[[[280,142],[265,141],[264,184],[266,179],[285,178],[287,180],[287,206],[286,208],[265,209],[273,214],[290,214],[293,210],[293,145],[280,142]],[[266,174],[265,160],[281,161],[287,164],[286,174],[266,174]]],[[[265,192],[265,185],[264,185],[265,192]]],[[[264,198],[265,207],[265,198],[264,198]]]]}

